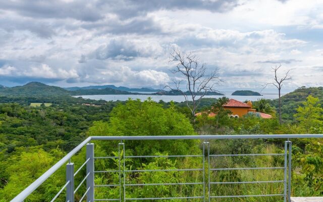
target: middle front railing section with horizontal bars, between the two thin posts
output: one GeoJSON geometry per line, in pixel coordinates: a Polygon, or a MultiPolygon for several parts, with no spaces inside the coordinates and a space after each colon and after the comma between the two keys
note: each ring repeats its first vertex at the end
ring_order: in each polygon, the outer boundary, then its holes
{"type": "Polygon", "coordinates": [[[205,201],[204,151],[199,155],[126,156],[124,153],[124,159],[124,201],[205,201]],[[126,164],[133,160],[150,163],[134,169],[126,164]],[[185,163],[178,163],[185,161],[196,164],[188,168],[185,163]],[[194,181],[185,181],[186,178],[194,181]]]}

